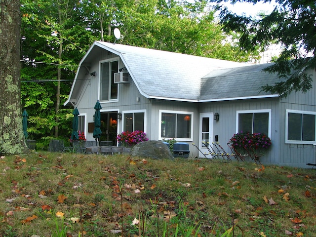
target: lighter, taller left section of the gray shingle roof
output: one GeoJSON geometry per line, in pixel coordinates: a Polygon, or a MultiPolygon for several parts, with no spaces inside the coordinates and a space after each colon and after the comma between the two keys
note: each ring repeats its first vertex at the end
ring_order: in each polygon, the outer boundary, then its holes
{"type": "Polygon", "coordinates": [[[245,65],[122,44],[96,45],[118,54],[139,90],[150,98],[197,101],[203,76],[213,70],[245,65]]]}

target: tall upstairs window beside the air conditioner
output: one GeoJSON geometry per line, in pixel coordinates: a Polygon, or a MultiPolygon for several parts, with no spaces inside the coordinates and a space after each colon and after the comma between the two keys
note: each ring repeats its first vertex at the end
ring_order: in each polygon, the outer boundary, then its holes
{"type": "Polygon", "coordinates": [[[114,83],[114,74],[118,72],[118,61],[108,61],[100,66],[100,98],[104,100],[118,99],[118,84],[114,83]]]}

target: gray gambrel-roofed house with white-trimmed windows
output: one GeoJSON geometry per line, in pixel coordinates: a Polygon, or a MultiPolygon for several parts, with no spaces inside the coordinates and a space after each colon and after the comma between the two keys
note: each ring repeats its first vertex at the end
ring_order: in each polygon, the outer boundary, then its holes
{"type": "Polygon", "coordinates": [[[280,81],[270,64],[197,57],[95,41],[79,63],[65,106],[79,110],[79,130],[93,140],[93,109],[102,106],[101,141],[143,130],[151,140],[175,138],[190,157],[207,154],[202,142],[227,142],[237,132],[265,132],[272,140],[264,163],[311,167],[316,163],[316,80],[307,93],[286,98],[260,91],[280,81]],[[219,118],[214,120],[214,115],[219,118]]]}

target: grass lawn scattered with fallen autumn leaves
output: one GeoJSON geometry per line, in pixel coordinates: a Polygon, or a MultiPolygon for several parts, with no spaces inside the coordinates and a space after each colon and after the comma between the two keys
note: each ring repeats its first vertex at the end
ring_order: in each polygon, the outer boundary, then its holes
{"type": "Polygon", "coordinates": [[[6,156],[0,236],[312,237],[315,181],[314,169],[218,159],[6,156]]]}

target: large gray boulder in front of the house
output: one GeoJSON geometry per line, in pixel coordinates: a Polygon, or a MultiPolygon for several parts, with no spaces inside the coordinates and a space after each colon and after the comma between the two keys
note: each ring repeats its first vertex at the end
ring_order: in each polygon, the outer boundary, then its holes
{"type": "Polygon", "coordinates": [[[136,144],[131,150],[132,157],[154,158],[154,159],[173,159],[167,147],[161,141],[146,141],[136,144]]]}

